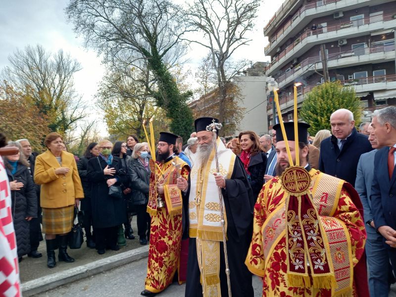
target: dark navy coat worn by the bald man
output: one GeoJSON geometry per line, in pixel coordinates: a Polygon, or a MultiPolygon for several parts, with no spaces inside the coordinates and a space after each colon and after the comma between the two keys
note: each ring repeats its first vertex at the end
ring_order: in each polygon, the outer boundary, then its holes
{"type": "Polygon", "coordinates": [[[337,145],[337,138],[332,135],[320,144],[319,170],[341,178],[354,187],[360,155],[371,150],[373,148],[368,137],[357,133],[355,128],[341,151],[337,145]]]}

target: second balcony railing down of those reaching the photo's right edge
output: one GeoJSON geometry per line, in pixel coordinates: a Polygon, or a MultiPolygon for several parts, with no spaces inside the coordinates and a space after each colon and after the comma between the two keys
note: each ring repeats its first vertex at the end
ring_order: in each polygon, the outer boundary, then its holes
{"type": "MultiPolygon", "coordinates": [[[[355,49],[351,49],[351,50],[344,51],[344,52],[329,54],[327,57],[327,60],[332,61],[332,60],[337,60],[340,58],[345,58],[345,57],[350,57],[350,56],[361,56],[361,55],[370,54],[370,53],[387,52],[387,51],[392,51],[392,50],[395,50],[395,45],[378,46],[378,47],[362,48],[362,49],[355,48],[355,49]]],[[[313,65],[315,63],[320,63],[321,61],[322,61],[322,59],[320,56],[308,57],[308,58],[302,60],[293,69],[291,69],[288,73],[284,73],[283,75],[279,76],[278,78],[275,78],[275,80],[279,84],[279,83],[283,82],[284,80],[286,80],[288,77],[293,76],[298,70],[305,67],[306,65],[309,65],[309,64],[313,65]]]]}

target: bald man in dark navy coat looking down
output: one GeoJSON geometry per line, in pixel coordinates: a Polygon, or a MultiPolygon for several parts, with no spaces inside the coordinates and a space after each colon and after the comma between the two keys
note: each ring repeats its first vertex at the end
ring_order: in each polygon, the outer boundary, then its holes
{"type": "Polygon", "coordinates": [[[320,145],[319,170],[355,185],[360,155],[372,150],[368,137],[357,133],[353,113],[338,109],[330,116],[332,136],[320,145]]]}

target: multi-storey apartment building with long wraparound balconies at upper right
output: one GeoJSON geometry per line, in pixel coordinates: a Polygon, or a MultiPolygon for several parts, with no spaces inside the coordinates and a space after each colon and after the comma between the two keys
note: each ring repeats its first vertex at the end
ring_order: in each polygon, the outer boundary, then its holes
{"type": "Polygon", "coordinates": [[[395,105],[395,30],[395,0],[286,0],[264,27],[266,75],[278,83],[284,120],[293,118],[293,84],[303,83],[300,105],[324,82],[326,65],[331,81],[355,87],[367,119],[374,109],[395,105]]]}

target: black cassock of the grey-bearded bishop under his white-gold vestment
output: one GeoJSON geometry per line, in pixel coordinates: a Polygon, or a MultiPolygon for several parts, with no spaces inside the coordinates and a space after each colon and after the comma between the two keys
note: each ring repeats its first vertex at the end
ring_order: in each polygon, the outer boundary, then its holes
{"type": "MultiPolygon", "coordinates": [[[[251,191],[244,166],[236,158],[231,179],[226,179],[226,188],[222,190],[227,214],[227,253],[230,268],[231,293],[233,297],[253,297],[251,273],[247,270],[245,259],[252,237],[253,207],[255,198],[251,191]]],[[[184,210],[188,211],[189,190],[185,195],[184,210]]],[[[184,237],[188,236],[188,213],[183,211],[184,237]]],[[[228,296],[225,274],[223,242],[220,242],[220,287],[221,296],[228,296]]],[[[186,297],[202,296],[200,271],[197,259],[196,239],[190,238],[187,266],[186,297]]]]}

